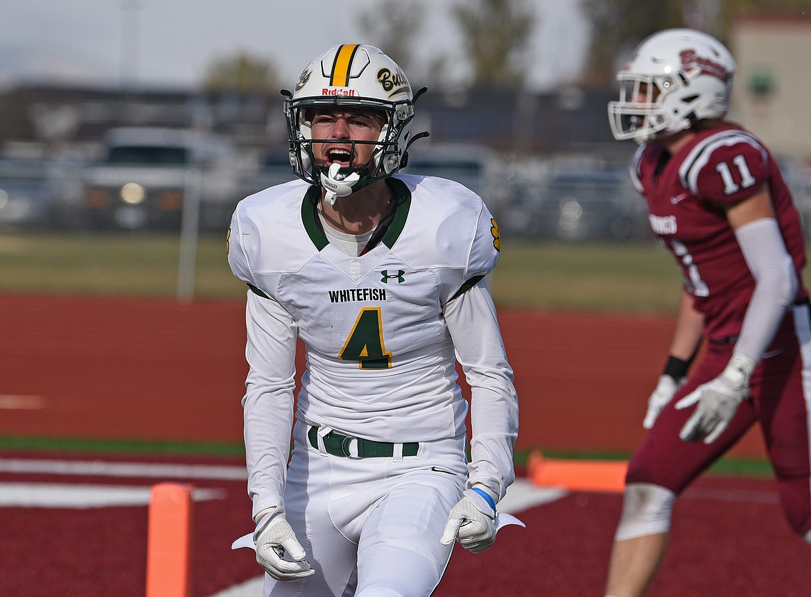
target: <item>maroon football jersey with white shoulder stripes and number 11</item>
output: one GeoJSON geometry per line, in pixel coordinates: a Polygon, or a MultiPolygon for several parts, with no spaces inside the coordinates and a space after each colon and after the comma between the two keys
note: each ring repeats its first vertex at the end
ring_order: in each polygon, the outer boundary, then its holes
{"type": "Polygon", "coordinates": [[[646,198],[654,234],[676,257],[694,306],[704,314],[707,338],[740,333],[755,287],[719,204],[744,200],[764,185],[800,280],[796,299],[808,296],[800,277],[805,265],[800,214],[777,162],[754,135],[733,125],[698,131],[670,159],[661,144],[647,144],[637,150],[632,178],[646,198]]]}

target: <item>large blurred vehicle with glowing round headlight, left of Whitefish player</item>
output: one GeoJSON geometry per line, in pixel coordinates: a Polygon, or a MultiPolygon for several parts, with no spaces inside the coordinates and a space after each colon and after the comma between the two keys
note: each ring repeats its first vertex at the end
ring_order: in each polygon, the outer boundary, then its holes
{"type": "Polygon", "coordinates": [[[238,201],[239,170],[230,142],[198,131],[122,127],[108,132],[105,158],[88,165],[84,191],[64,216],[93,229],[178,228],[192,193],[200,228],[225,230],[238,201]]]}

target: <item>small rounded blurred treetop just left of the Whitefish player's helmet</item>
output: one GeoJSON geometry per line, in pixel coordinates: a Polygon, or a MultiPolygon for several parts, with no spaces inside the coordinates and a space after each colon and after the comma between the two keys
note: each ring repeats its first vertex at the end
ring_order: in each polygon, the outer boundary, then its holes
{"type": "Polygon", "coordinates": [[[204,87],[208,91],[269,92],[279,89],[277,68],[272,62],[241,52],[218,58],[206,69],[204,87]]]}

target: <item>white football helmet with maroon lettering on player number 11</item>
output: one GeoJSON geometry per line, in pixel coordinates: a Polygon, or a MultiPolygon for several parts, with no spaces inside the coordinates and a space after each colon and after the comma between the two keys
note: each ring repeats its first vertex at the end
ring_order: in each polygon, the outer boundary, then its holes
{"type": "Polygon", "coordinates": [[[721,42],[693,29],[665,29],[642,41],[617,73],[620,101],[608,103],[615,139],[643,144],[729,109],[735,59],[721,42]]]}

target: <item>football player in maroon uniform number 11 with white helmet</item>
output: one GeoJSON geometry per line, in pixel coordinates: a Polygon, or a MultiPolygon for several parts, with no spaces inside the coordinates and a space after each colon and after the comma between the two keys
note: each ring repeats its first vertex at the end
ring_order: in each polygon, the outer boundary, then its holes
{"type": "Polygon", "coordinates": [[[616,139],[642,144],[633,183],[684,276],[643,422],[650,432],[629,462],[608,570],[612,597],[645,593],[676,496],[756,422],[786,518],[811,543],[803,231],[775,158],[724,120],[735,70],[713,37],[664,30],[634,51],[617,75],[620,99],[608,105],[616,139]],[[702,338],[704,356],[690,368],[702,338]]]}

